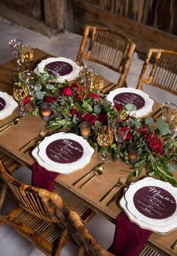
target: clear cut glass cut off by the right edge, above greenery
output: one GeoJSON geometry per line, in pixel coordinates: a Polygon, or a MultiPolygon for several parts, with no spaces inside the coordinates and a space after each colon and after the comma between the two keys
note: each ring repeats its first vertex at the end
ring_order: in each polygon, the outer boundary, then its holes
{"type": "Polygon", "coordinates": [[[165,102],[161,108],[163,120],[169,123],[169,132],[177,133],[177,105],[165,102]]]}

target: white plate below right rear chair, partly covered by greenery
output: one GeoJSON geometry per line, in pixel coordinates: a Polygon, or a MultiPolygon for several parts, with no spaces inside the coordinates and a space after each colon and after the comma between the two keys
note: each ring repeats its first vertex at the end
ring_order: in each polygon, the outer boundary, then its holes
{"type": "MultiPolygon", "coordinates": [[[[119,93],[135,93],[139,96],[142,96],[142,98],[145,100],[145,105],[142,108],[139,108],[136,111],[131,111],[130,114],[134,114],[136,115],[136,117],[143,117],[146,114],[148,114],[149,112],[152,111],[153,105],[154,105],[154,99],[151,99],[147,93],[144,93],[142,90],[137,90],[134,88],[118,88],[115,89],[113,91],[111,91],[108,95],[107,95],[107,100],[113,103],[113,99],[116,95],[118,95],[119,93]]],[[[128,111],[129,112],[129,111],[128,111]]]]}

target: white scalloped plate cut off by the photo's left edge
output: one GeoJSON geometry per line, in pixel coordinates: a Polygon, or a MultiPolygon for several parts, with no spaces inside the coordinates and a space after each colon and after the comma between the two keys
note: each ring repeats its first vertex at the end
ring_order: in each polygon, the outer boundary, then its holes
{"type": "Polygon", "coordinates": [[[0,111],[0,120],[5,119],[13,113],[13,110],[17,108],[18,104],[13,99],[13,96],[10,96],[7,93],[0,92],[0,97],[5,100],[5,108],[0,111]]]}

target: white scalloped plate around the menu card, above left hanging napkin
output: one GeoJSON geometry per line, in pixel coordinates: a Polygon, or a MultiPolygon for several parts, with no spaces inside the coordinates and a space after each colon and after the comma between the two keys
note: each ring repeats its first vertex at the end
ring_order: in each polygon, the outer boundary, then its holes
{"type": "Polygon", "coordinates": [[[32,155],[40,164],[40,166],[43,166],[43,168],[52,172],[69,174],[86,166],[86,164],[90,162],[94,152],[94,149],[81,136],[77,136],[73,133],[55,133],[52,136],[46,137],[42,142],[40,142],[40,144],[37,145],[36,148],[34,148],[34,151],[32,151],[32,155]],[[72,139],[78,142],[83,147],[82,157],[80,157],[77,161],[73,163],[56,163],[49,159],[49,157],[46,155],[46,147],[51,142],[54,142],[58,139],[72,139]]]}

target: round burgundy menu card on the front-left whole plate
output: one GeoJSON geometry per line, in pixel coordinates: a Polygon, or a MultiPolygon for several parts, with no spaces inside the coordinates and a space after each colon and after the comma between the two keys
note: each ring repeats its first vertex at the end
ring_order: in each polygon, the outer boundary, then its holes
{"type": "Polygon", "coordinates": [[[83,146],[72,139],[57,139],[46,147],[46,155],[55,163],[74,163],[83,156],[83,146]]]}

